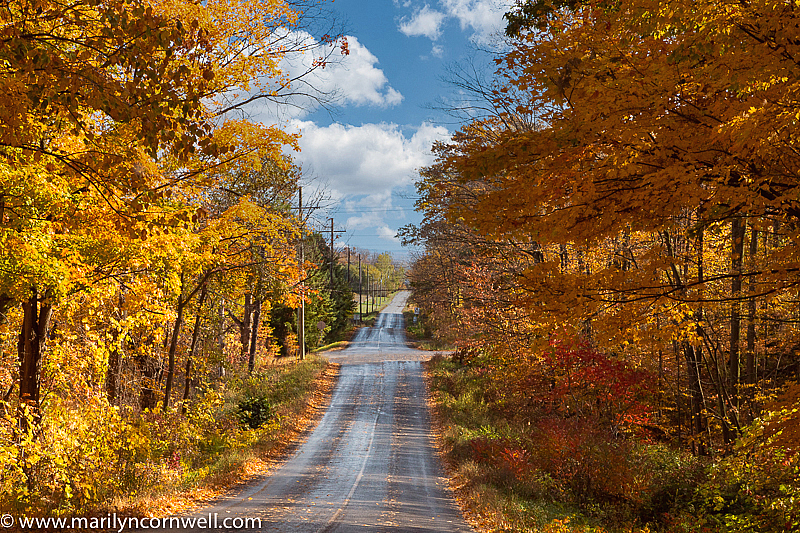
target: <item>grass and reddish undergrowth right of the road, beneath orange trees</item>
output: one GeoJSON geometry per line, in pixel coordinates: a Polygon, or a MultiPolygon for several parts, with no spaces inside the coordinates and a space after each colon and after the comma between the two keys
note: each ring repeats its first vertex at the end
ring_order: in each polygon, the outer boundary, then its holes
{"type": "Polygon", "coordinates": [[[696,457],[598,417],[533,406],[488,360],[437,355],[428,365],[451,482],[483,531],[800,530],[800,463],[756,445],[763,426],[724,457],[696,457]]]}

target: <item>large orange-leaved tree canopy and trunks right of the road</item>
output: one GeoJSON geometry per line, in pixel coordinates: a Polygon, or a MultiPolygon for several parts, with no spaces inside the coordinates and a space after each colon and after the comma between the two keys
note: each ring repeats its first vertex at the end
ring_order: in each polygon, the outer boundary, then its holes
{"type": "Polygon", "coordinates": [[[487,323],[526,324],[516,355],[567,328],[658,376],[668,432],[731,443],[798,364],[796,6],[543,0],[508,19],[495,114],[419,186],[429,227],[497,266],[482,279],[508,305],[472,322],[482,345],[503,344],[487,323]]]}

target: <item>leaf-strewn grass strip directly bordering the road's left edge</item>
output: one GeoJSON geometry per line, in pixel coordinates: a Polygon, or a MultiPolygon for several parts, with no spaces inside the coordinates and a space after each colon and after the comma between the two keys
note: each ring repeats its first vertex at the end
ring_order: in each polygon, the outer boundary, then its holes
{"type": "Polygon", "coordinates": [[[274,460],[324,409],[337,369],[338,365],[309,354],[304,361],[268,366],[250,376],[234,377],[222,392],[215,413],[222,431],[206,435],[191,461],[182,461],[180,454],[173,452],[168,464],[177,472],[173,473],[171,484],[156,484],[141,496],[118,500],[114,507],[136,510],[145,516],[169,515],[268,473],[274,460]],[[257,427],[249,427],[243,414],[242,407],[248,402],[265,408],[257,427]],[[230,434],[225,435],[226,431],[230,434]]]}

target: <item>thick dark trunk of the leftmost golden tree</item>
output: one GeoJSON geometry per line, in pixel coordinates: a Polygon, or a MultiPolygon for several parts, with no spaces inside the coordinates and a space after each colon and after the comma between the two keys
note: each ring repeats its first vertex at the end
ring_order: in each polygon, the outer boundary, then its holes
{"type": "Polygon", "coordinates": [[[22,330],[17,344],[19,399],[20,404],[28,407],[28,411],[20,413],[19,423],[21,429],[27,431],[31,425],[36,425],[41,420],[39,403],[41,362],[53,307],[45,303],[40,307],[39,295],[34,289],[31,297],[22,304],[22,309],[22,330]]]}

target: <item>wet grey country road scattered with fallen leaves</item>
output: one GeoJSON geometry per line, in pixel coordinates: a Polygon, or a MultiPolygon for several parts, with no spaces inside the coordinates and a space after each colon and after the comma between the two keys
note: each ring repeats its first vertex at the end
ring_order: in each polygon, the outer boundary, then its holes
{"type": "Polygon", "coordinates": [[[420,364],[430,352],[405,344],[407,298],[399,293],[375,327],[329,355],[342,365],[330,407],[294,455],[198,516],[261,519],[261,529],[230,531],[472,531],[435,453],[420,364]]]}

